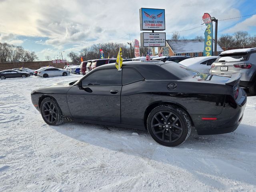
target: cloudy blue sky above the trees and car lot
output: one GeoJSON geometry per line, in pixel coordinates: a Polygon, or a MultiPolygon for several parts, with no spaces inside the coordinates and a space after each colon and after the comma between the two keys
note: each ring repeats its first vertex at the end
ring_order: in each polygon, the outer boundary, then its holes
{"type": "Polygon", "coordinates": [[[219,20],[218,37],[238,30],[256,35],[256,15],[247,16],[256,14],[256,0],[0,0],[0,42],[21,45],[39,60],[61,51],[70,60],[69,52],[92,44],[140,41],[142,7],[165,9],[166,39],[195,27],[180,36],[204,36],[205,12],[219,20]],[[241,16],[247,17],[223,20],[241,16]]]}

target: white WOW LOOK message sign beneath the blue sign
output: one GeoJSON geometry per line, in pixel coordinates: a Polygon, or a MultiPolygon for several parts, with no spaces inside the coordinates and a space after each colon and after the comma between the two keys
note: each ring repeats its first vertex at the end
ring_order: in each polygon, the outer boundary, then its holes
{"type": "Polygon", "coordinates": [[[143,47],[165,47],[166,34],[165,33],[140,33],[140,46],[143,47]]]}

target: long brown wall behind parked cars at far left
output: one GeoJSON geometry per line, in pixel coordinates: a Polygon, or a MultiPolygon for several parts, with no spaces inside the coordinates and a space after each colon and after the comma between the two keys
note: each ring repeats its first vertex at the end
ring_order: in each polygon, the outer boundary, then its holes
{"type": "Polygon", "coordinates": [[[66,63],[55,63],[52,64],[52,61],[34,61],[34,62],[8,62],[8,63],[0,63],[0,71],[13,69],[13,68],[30,68],[30,69],[39,69],[43,66],[53,66],[56,68],[62,68],[67,65],[66,63]]]}

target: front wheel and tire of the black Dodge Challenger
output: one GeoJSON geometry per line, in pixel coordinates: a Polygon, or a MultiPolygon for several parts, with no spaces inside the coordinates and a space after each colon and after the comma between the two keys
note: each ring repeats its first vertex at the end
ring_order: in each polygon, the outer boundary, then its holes
{"type": "Polygon", "coordinates": [[[40,105],[40,112],[44,122],[46,122],[48,125],[55,126],[64,122],[65,117],[54,98],[44,98],[40,105]]]}

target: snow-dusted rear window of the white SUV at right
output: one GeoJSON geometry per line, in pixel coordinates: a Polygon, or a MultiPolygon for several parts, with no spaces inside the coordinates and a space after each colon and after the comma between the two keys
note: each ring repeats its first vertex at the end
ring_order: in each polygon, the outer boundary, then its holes
{"type": "Polygon", "coordinates": [[[248,53],[232,53],[220,55],[215,62],[240,62],[249,58],[248,53]]]}

